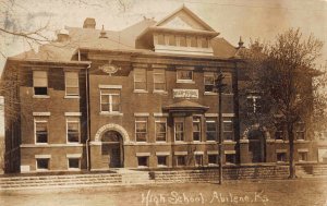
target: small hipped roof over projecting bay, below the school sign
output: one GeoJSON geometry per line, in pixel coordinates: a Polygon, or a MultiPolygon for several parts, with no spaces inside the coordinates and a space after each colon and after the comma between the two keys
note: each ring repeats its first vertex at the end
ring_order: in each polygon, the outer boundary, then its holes
{"type": "Polygon", "coordinates": [[[206,111],[209,108],[206,106],[199,105],[194,101],[190,101],[187,99],[164,107],[164,110],[170,110],[170,111],[194,111],[194,110],[206,111]]]}

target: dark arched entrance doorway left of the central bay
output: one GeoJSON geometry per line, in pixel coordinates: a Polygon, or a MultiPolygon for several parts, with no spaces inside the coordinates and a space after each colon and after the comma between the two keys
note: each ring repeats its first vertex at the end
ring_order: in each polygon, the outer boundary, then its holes
{"type": "Polygon", "coordinates": [[[119,132],[107,131],[101,136],[101,154],[108,156],[109,168],[123,167],[123,138],[119,132]]]}

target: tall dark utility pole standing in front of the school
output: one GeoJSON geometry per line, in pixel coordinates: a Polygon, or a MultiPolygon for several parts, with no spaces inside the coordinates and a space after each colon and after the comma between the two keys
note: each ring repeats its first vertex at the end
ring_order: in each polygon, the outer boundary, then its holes
{"type": "Polygon", "coordinates": [[[219,72],[216,80],[218,89],[218,149],[219,149],[219,184],[222,184],[222,117],[221,117],[221,93],[226,84],[222,84],[223,74],[219,72]]]}

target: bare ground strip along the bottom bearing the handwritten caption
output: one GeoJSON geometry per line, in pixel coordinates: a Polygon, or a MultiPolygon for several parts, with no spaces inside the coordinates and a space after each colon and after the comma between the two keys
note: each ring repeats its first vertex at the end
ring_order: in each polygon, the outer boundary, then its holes
{"type": "Polygon", "coordinates": [[[327,205],[327,179],[2,191],[1,206],[327,205]]]}

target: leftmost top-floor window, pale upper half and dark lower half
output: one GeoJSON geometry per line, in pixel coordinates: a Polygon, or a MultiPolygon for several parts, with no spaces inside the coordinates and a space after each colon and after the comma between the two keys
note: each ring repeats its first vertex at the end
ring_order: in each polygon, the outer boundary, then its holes
{"type": "Polygon", "coordinates": [[[48,95],[48,73],[46,71],[33,71],[34,95],[48,95]]]}

